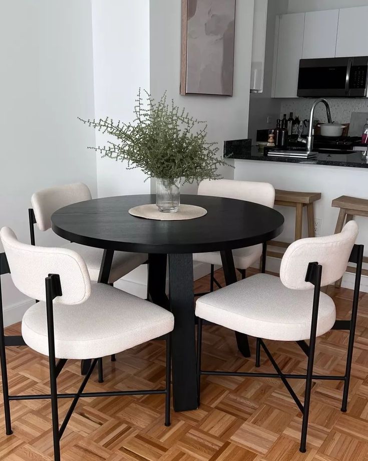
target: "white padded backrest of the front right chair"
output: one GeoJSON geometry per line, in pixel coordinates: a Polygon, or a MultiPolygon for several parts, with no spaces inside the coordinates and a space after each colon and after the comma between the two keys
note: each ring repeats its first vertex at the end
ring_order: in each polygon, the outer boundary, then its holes
{"type": "Polygon", "coordinates": [[[305,282],[305,276],[308,264],[314,262],[322,266],[322,287],[336,282],[346,270],[357,235],[356,222],[349,221],[339,234],[293,242],[281,260],[281,282],[294,290],[312,288],[310,282],[305,282]]]}

